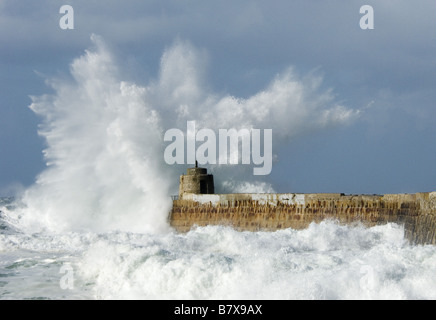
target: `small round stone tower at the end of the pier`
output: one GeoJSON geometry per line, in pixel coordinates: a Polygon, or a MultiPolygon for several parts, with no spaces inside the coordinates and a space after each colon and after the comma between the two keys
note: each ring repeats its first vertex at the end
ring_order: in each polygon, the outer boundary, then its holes
{"type": "Polygon", "coordinates": [[[185,193],[213,194],[213,175],[207,174],[206,168],[199,168],[195,161],[195,168],[189,168],[186,175],[180,176],[179,199],[183,199],[185,193]]]}

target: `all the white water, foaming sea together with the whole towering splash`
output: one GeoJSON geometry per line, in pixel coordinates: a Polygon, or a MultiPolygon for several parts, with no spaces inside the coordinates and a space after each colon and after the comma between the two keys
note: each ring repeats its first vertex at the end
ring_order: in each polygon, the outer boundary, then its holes
{"type": "MultiPolygon", "coordinates": [[[[204,92],[196,51],[184,43],[163,54],[157,79],[126,81],[102,39],[92,40],[69,75],[48,77],[49,93],[31,96],[46,167],[0,198],[1,300],[436,299],[436,246],[409,243],[401,225],[172,230],[171,194],[184,172],[164,162],[166,129],[184,131],[204,115],[198,124],[213,129],[243,123],[294,136],[318,126],[309,119],[330,121],[326,96],[309,90],[313,101],[295,105],[305,82],[285,76],[250,99],[217,98],[204,92]]],[[[272,192],[248,166],[212,169],[216,187],[272,192]]]]}

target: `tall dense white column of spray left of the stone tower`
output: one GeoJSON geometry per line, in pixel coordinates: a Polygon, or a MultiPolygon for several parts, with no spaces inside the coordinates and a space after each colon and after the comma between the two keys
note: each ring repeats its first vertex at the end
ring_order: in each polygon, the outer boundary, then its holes
{"type": "Polygon", "coordinates": [[[165,229],[161,120],[146,90],[118,80],[113,57],[93,40],[96,51],[71,64],[72,81],[51,80],[54,95],[32,97],[47,169],[24,195],[23,218],[51,231],[165,229]]]}

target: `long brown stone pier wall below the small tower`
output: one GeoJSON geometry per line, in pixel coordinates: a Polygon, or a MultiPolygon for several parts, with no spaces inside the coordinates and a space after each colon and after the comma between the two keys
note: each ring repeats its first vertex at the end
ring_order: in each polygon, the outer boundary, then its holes
{"type": "Polygon", "coordinates": [[[228,225],[237,230],[302,229],[325,219],[374,226],[404,225],[412,243],[436,244],[436,192],[389,195],[184,194],[169,215],[180,232],[194,226],[228,225]]]}

